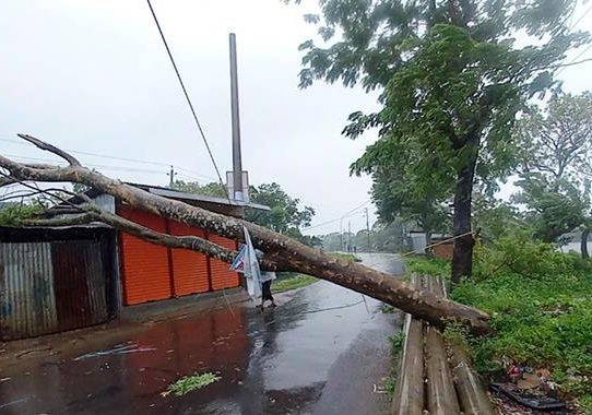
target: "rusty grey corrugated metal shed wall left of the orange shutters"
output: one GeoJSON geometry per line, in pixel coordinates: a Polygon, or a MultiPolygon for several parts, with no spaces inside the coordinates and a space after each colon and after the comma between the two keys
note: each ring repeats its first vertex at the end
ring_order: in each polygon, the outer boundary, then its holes
{"type": "Polygon", "coordinates": [[[50,234],[0,241],[2,340],[98,324],[113,315],[107,240],[50,240],[50,234]]]}

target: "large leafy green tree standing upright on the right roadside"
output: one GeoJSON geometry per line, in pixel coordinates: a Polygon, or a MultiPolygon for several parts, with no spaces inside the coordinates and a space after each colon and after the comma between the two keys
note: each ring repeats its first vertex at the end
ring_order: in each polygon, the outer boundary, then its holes
{"type": "MultiPolygon", "coordinates": [[[[379,128],[354,170],[409,163],[405,177],[454,197],[457,236],[471,232],[472,192],[513,165],[511,130],[525,102],[554,85],[566,50],[587,39],[568,27],[575,0],[320,0],[325,44],[305,42],[300,86],[360,82],[382,109],[354,112],[344,133],[379,128]],[[514,35],[523,35],[519,46],[514,35]],[[402,155],[402,158],[400,158],[402,155]]],[[[422,191],[416,193],[422,194],[422,191]]],[[[473,238],[454,245],[452,278],[472,272],[473,238]]]]}

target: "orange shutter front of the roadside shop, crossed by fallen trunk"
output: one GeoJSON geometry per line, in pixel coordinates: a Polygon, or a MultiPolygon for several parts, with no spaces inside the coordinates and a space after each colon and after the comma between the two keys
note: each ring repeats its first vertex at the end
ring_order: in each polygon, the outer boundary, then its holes
{"type": "MultiPolygon", "coordinates": [[[[236,241],[208,235],[175,221],[166,221],[146,212],[119,206],[118,214],[151,229],[171,235],[194,235],[236,250],[236,241]]],[[[229,265],[187,249],[168,249],[121,234],[123,304],[162,300],[186,295],[234,288],[240,285],[238,273],[229,265]]]]}

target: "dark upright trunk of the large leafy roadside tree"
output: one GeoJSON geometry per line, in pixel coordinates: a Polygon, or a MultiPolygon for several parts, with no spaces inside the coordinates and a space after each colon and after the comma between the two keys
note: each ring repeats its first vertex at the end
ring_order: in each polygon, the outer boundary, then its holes
{"type": "Polygon", "coordinates": [[[467,143],[473,151],[466,166],[460,169],[457,176],[454,190],[454,250],[452,253],[452,283],[458,284],[461,278],[470,277],[473,272],[473,245],[471,234],[471,205],[473,194],[473,179],[477,163],[476,139],[467,143]],[[462,236],[461,236],[462,235],[462,236]]]}

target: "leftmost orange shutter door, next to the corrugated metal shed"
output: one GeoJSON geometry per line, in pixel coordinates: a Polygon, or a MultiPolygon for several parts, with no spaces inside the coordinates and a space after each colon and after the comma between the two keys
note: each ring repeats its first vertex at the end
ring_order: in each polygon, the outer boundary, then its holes
{"type": "MultiPolygon", "coordinates": [[[[119,215],[157,232],[166,232],[165,220],[127,206],[119,215]]],[[[170,298],[167,248],[121,233],[123,300],[131,306],[170,298]]]]}

